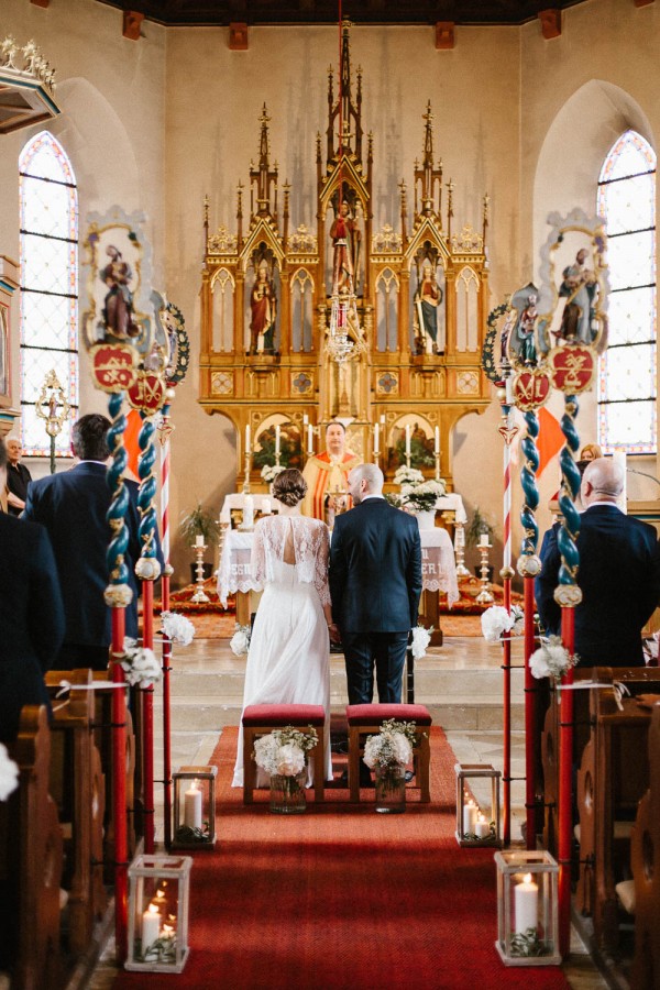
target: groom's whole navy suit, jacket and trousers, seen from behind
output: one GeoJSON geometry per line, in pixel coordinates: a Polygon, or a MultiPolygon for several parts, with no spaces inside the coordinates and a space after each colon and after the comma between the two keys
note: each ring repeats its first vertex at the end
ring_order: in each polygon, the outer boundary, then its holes
{"type": "Polygon", "coordinates": [[[366,497],[334,520],[332,617],[346,662],[349,703],[399,703],[408,634],[417,625],[421,546],[414,516],[366,497]]]}

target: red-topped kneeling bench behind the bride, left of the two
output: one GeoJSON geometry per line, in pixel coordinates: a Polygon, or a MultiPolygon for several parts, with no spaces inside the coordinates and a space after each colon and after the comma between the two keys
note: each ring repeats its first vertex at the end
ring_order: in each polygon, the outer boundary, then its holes
{"type": "Polygon", "coordinates": [[[326,762],[323,752],[323,726],[326,712],[322,705],[248,705],[241,719],[243,725],[243,804],[252,804],[256,782],[256,763],[252,759],[254,740],[267,736],[273,729],[293,725],[301,733],[316,728],[317,745],[309,750],[314,760],[315,801],[323,800],[326,762]]]}

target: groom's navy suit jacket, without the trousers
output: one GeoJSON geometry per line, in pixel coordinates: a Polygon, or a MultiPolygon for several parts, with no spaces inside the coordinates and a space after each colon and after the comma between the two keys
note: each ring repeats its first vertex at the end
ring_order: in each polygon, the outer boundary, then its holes
{"type": "Polygon", "coordinates": [[[421,546],[414,516],[366,498],[334,520],[332,617],[346,632],[403,632],[417,625],[421,546]]]}

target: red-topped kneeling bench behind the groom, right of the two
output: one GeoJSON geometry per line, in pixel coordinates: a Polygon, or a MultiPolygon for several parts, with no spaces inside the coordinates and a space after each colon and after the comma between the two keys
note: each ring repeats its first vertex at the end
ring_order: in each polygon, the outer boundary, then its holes
{"type": "Polygon", "coordinates": [[[367,736],[375,736],[388,718],[397,722],[414,722],[420,732],[413,747],[415,760],[415,779],[419,787],[419,800],[428,804],[431,800],[429,791],[429,766],[431,748],[429,729],[432,723],[431,713],[426,705],[346,705],[349,722],[349,788],[351,801],[360,801],[360,760],[364,754],[367,736]]]}

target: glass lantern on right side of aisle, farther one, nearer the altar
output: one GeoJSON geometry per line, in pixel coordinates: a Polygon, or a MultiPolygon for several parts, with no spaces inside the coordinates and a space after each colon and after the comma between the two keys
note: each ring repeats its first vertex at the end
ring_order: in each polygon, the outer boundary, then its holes
{"type": "Polygon", "coordinates": [[[454,772],[459,846],[502,846],[499,770],[490,763],[457,763],[454,772]]]}

